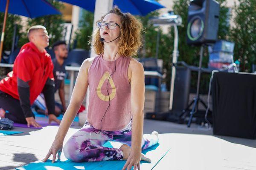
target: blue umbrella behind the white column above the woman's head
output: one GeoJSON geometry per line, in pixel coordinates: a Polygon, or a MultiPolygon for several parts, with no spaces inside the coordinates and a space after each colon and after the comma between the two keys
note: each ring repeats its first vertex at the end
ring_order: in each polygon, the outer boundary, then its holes
{"type": "MultiPolygon", "coordinates": [[[[59,0],[70,3],[94,12],[96,0],[59,0]]],[[[130,12],[134,15],[145,16],[156,9],[165,8],[154,0],[114,0],[113,6],[118,6],[122,12],[130,12]]]]}

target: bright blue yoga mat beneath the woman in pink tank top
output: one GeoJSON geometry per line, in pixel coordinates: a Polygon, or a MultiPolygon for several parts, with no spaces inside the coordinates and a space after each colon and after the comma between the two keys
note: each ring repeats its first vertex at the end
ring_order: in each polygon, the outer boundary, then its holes
{"type": "MultiPolygon", "coordinates": [[[[113,147],[110,142],[107,142],[104,147],[113,147]]],[[[152,163],[145,161],[140,162],[140,169],[152,170],[155,165],[163,158],[163,156],[170,150],[164,144],[156,144],[146,150],[143,153],[147,156],[147,153],[151,152],[152,163]],[[154,158],[152,157],[154,155],[154,158]]],[[[72,162],[72,161],[55,161],[51,160],[47,162],[36,161],[27,164],[23,167],[18,167],[16,170],[121,170],[126,161],[96,161],[96,162],[72,162]]]]}

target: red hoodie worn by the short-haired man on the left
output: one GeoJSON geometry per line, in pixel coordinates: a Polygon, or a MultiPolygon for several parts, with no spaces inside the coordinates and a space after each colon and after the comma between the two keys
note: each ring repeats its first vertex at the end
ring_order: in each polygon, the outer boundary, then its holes
{"type": "Polygon", "coordinates": [[[20,49],[14,62],[13,71],[0,81],[0,90],[20,100],[17,78],[28,82],[30,104],[42,92],[47,78],[53,78],[53,64],[50,55],[44,50],[40,52],[33,43],[26,43],[20,49]]]}

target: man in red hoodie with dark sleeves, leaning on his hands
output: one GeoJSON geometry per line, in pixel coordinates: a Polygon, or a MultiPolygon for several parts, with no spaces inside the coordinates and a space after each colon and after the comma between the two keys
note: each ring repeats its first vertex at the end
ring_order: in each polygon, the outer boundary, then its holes
{"type": "Polygon", "coordinates": [[[54,102],[53,64],[45,48],[49,36],[44,26],[32,26],[28,30],[29,43],[20,49],[14,62],[13,71],[0,81],[0,107],[5,111],[1,117],[41,127],[35,121],[31,104],[43,92],[49,111],[49,123],[60,121],[56,118],[54,102]]]}

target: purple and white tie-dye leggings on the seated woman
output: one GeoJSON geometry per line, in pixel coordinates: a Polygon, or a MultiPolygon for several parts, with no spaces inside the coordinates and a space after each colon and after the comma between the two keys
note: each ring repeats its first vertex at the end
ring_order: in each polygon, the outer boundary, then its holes
{"type": "MultiPolygon", "coordinates": [[[[99,130],[96,130],[99,133],[99,130]]],[[[103,147],[108,141],[116,141],[131,147],[131,124],[120,131],[104,131],[97,135],[90,124],[85,124],[67,141],[63,148],[64,155],[70,161],[89,162],[122,160],[123,153],[119,148],[103,147]]],[[[142,150],[157,144],[156,135],[143,135],[142,150]]]]}

